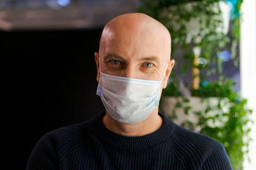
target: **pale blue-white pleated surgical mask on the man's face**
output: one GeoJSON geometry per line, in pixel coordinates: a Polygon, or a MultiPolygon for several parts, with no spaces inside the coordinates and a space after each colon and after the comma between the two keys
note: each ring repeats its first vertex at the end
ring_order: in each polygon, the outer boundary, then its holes
{"type": "Polygon", "coordinates": [[[163,77],[160,81],[140,80],[100,72],[97,95],[111,117],[135,124],[145,120],[159,105],[163,77]]]}

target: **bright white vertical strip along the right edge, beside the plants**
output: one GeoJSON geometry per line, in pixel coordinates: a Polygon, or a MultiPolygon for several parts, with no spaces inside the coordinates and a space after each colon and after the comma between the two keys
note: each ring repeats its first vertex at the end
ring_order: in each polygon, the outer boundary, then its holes
{"type": "Polygon", "coordinates": [[[248,108],[253,110],[252,131],[250,136],[249,157],[251,162],[244,161],[244,170],[256,167],[256,1],[244,0],[241,6],[241,96],[248,100],[248,108]]]}

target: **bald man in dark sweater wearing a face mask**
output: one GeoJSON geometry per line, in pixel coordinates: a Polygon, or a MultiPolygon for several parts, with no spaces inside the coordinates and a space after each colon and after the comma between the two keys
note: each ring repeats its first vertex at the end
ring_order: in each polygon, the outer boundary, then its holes
{"type": "Polygon", "coordinates": [[[27,170],[232,169],[223,146],[159,113],[174,60],[163,24],[142,13],[109,21],[102,31],[97,95],[106,110],[43,136],[27,170]]]}

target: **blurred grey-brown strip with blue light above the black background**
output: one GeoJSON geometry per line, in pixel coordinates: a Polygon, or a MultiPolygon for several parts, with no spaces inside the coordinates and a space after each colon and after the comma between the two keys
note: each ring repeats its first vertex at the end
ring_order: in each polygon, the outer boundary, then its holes
{"type": "Polygon", "coordinates": [[[127,0],[1,0],[0,10],[0,28],[11,31],[102,28],[136,8],[127,0]]]}

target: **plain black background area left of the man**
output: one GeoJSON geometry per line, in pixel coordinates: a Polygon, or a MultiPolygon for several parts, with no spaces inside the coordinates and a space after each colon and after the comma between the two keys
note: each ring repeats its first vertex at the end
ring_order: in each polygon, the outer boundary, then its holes
{"type": "MultiPolygon", "coordinates": [[[[103,110],[94,52],[102,29],[0,32],[10,169],[25,169],[45,133],[103,110]]],[[[3,129],[2,129],[3,130],[3,129]]],[[[8,168],[9,169],[9,168],[8,168]]]]}

